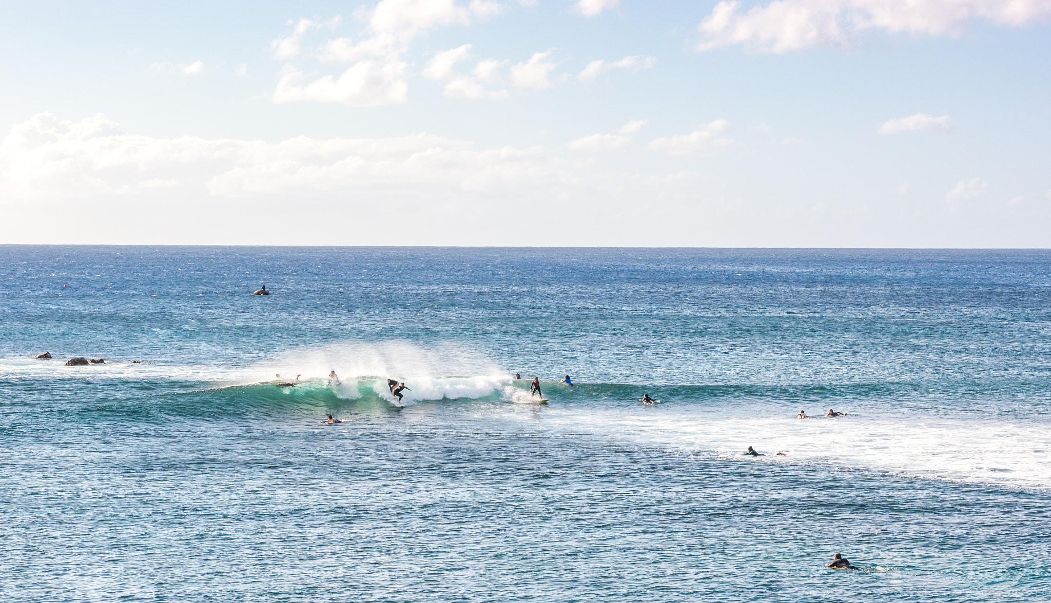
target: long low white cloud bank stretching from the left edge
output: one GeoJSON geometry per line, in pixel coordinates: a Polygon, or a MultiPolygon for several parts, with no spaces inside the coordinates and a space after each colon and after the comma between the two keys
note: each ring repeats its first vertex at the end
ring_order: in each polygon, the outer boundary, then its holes
{"type": "Polygon", "coordinates": [[[476,150],[426,133],[275,143],[165,139],[123,133],[101,115],[75,123],[40,113],[15,125],[0,143],[0,199],[123,199],[164,190],[253,200],[369,193],[386,200],[390,192],[410,199],[425,191],[429,200],[477,191],[488,197],[564,181],[568,167],[538,148],[476,150]]]}

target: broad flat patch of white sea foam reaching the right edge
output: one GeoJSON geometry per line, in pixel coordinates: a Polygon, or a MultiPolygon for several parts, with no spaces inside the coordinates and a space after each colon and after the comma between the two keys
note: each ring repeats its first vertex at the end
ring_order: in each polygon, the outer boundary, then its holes
{"type": "Polygon", "coordinates": [[[713,452],[742,461],[864,467],[970,483],[1051,488],[1051,432],[1026,420],[989,417],[720,416],[712,409],[553,409],[559,429],[593,430],[654,445],[713,452]],[[755,446],[764,459],[742,456],[755,446]],[[778,452],[785,457],[772,456],[778,452]]]}

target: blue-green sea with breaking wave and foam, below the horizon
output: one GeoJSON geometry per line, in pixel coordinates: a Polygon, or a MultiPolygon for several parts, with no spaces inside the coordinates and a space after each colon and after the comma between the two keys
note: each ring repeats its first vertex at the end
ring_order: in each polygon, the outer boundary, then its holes
{"type": "Polygon", "coordinates": [[[1048,251],[0,246],[0,316],[2,601],[1051,600],[1048,251]]]}

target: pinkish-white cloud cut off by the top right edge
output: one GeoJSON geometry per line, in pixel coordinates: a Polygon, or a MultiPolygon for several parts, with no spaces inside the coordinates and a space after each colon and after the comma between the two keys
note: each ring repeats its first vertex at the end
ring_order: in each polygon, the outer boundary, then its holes
{"type": "Polygon", "coordinates": [[[1051,15],[1048,0],[776,0],[719,2],[698,25],[698,50],[743,44],[760,53],[849,47],[865,32],[945,36],[968,21],[1021,26],[1051,15]]]}

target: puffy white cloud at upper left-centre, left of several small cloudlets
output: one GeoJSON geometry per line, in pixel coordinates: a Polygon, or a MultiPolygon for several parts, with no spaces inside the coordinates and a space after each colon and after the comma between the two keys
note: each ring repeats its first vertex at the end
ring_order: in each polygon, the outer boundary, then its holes
{"type": "Polygon", "coordinates": [[[317,101],[352,107],[404,103],[409,90],[403,79],[405,66],[397,61],[358,61],[338,78],[324,76],[306,83],[301,83],[303,74],[298,69],[286,67],[273,91],[273,102],[317,101]]]}

